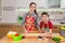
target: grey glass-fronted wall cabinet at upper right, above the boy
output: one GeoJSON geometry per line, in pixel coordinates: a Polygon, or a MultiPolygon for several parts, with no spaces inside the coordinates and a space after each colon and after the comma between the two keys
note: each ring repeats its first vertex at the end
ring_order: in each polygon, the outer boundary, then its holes
{"type": "Polygon", "coordinates": [[[48,0],[48,8],[52,8],[52,9],[56,9],[56,8],[61,8],[61,0],[48,0]]]}

